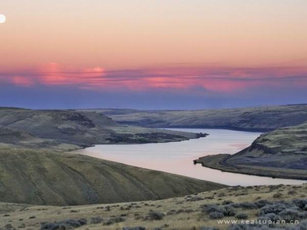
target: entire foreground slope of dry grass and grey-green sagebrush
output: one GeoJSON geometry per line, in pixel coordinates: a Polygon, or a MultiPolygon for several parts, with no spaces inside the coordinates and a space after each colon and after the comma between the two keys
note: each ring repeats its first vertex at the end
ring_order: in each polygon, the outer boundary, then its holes
{"type": "Polygon", "coordinates": [[[132,203],[64,207],[0,203],[0,227],[28,230],[305,229],[306,191],[307,185],[249,186],[132,203]],[[280,224],[217,223],[217,220],[241,222],[242,219],[275,220],[275,223],[280,220],[280,224]],[[281,220],[298,220],[299,224],[281,224],[281,220]]]}

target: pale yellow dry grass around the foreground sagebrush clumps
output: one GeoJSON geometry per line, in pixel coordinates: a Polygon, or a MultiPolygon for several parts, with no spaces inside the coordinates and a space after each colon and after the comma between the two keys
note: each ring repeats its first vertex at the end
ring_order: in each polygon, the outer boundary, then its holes
{"type": "MultiPolygon", "coordinates": [[[[294,198],[303,199],[306,197],[307,185],[302,186],[261,186],[247,188],[227,188],[216,191],[204,192],[197,195],[190,195],[179,198],[170,198],[157,201],[143,201],[134,203],[97,204],[85,206],[34,206],[0,203],[1,218],[0,227],[10,223],[14,227],[25,224],[24,229],[39,229],[41,222],[53,222],[64,219],[85,218],[87,224],[78,229],[122,229],[125,226],[143,226],[146,229],[162,227],[163,229],[201,229],[203,226],[216,226],[216,220],[210,219],[208,214],[201,212],[202,204],[222,204],[223,201],[255,202],[261,199],[270,201],[288,201],[294,198]],[[295,190],[296,193],[292,194],[295,190]],[[274,194],[281,193],[281,196],[274,198],[274,194]],[[195,200],[195,201],[193,201],[195,200]],[[109,207],[109,208],[107,208],[109,207]],[[108,211],[109,210],[109,211],[108,211]],[[150,211],[163,213],[162,220],[146,220],[150,211]],[[170,215],[170,211],[173,214],[170,215]],[[177,212],[181,210],[182,212],[177,212]],[[191,211],[192,210],[192,211],[191,211]],[[4,215],[9,215],[4,217],[4,215]],[[30,218],[32,217],[32,218],[30,218]],[[33,218],[35,217],[35,218],[33,218]],[[101,223],[91,224],[91,218],[100,217],[101,223]],[[107,220],[113,217],[123,217],[124,221],[105,225],[107,220]],[[144,218],[145,217],[145,218],[144,218]]],[[[236,209],[237,213],[246,213],[249,220],[256,219],[258,209],[236,209]]],[[[224,219],[235,219],[225,217],[224,219]]],[[[226,229],[227,226],[218,226],[226,229]]]]}

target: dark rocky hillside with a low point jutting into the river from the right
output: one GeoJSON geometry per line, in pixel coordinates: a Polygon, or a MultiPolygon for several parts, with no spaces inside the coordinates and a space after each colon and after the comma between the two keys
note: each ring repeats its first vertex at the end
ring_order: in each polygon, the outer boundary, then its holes
{"type": "Polygon", "coordinates": [[[307,179],[307,123],[261,134],[236,154],[201,157],[195,163],[223,171],[307,179]]]}

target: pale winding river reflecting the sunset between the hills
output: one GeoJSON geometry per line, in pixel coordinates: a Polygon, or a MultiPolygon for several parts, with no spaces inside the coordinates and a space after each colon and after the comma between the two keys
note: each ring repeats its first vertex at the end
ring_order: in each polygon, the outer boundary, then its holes
{"type": "Polygon", "coordinates": [[[203,132],[210,135],[182,142],[134,144],[134,145],[96,145],[75,153],[101,159],[112,160],[127,165],[159,170],[193,178],[210,180],[226,185],[298,185],[304,180],[279,179],[251,176],[194,165],[193,160],[201,156],[229,153],[234,154],[248,147],[260,133],[232,131],[225,129],[172,129],[188,132],[203,132]]]}

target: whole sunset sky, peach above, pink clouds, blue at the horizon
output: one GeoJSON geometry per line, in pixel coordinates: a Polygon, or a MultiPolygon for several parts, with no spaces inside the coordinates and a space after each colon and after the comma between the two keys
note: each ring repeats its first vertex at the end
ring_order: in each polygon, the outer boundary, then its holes
{"type": "Polygon", "coordinates": [[[307,1],[1,0],[0,106],[307,103],[307,1]]]}

